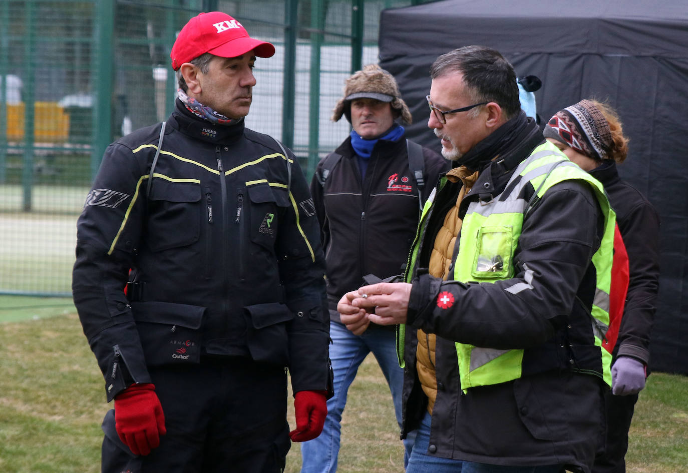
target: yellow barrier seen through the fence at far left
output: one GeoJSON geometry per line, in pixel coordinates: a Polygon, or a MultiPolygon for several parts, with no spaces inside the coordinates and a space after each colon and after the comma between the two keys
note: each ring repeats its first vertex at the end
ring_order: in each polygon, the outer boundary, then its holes
{"type": "MultiPolygon", "coordinates": [[[[24,140],[24,104],[6,105],[7,140],[24,140]]],[[[1,125],[0,125],[1,126],[1,125]]],[[[34,103],[34,142],[61,143],[69,135],[69,114],[57,102],[34,103]]]]}

